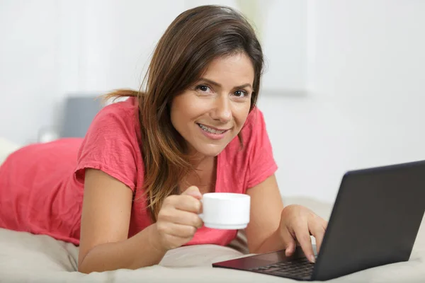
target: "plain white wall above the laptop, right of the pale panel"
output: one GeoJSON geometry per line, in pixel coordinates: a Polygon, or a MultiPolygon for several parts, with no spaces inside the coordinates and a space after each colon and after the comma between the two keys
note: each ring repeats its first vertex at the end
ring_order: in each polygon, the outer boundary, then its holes
{"type": "Polygon", "coordinates": [[[348,169],[425,159],[425,2],[308,3],[310,92],[261,107],[283,194],[333,200],[348,169]]]}

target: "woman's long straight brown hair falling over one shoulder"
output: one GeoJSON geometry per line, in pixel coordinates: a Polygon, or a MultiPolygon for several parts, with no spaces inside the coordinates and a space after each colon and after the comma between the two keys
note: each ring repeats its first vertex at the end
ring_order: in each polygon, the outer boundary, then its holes
{"type": "Polygon", "coordinates": [[[254,67],[252,110],[260,88],[263,52],[249,21],[226,6],[198,6],[181,13],[154,50],[145,76],[146,91],[121,89],[106,95],[135,96],[139,101],[144,189],[154,221],[163,200],[178,193],[178,184],[193,170],[183,137],[171,124],[171,101],[198,81],[213,59],[239,53],[248,55],[254,67]]]}

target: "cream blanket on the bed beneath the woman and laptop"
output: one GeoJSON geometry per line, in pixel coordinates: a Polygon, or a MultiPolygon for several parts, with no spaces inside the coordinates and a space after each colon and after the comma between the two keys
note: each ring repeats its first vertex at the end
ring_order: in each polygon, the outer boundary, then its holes
{"type": "MultiPolygon", "coordinates": [[[[16,149],[16,146],[11,144],[8,144],[6,149],[5,144],[1,144],[0,139],[0,158],[2,154],[4,156],[6,152],[16,149]]],[[[307,198],[284,201],[285,204],[303,204],[325,219],[329,218],[331,204],[307,198]]],[[[243,240],[243,236],[238,240],[243,240]]],[[[242,256],[245,255],[229,247],[189,246],[169,251],[159,265],[152,267],[84,275],[76,271],[78,248],[72,244],[56,241],[48,236],[0,229],[0,282],[295,282],[254,272],[211,267],[212,262],[242,256]]],[[[363,270],[329,282],[424,283],[424,221],[408,262],[363,270]]]]}

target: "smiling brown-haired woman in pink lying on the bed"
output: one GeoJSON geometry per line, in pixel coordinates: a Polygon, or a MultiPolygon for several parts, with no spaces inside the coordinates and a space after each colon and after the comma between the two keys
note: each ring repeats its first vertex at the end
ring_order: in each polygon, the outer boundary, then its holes
{"type": "Polygon", "coordinates": [[[205,192],[251,196],[251,253],[300,243],[314,261],[327,222],[283,208],[271,143],[256,108],[263,54],[231,8],[179,15],[154,51],[146,92],[103,108],[86,137],[33,144],[0,169],[0,226],[80,246],[79,271],[157,264],[184,245],[225,246],[237,231],[203,226],[205,192]],[[76,163],[77,161],[77,163],[76,163]]]}

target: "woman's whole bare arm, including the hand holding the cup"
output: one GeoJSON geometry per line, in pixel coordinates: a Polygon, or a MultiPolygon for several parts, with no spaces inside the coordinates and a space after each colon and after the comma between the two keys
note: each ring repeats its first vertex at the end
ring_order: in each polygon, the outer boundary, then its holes
{"type": "Polygon", "coordinates": [[[103,171],[86,169],[79,272],[137,269],[158,264],[167,250],[190,241],[195,227],[202,225],[197,216],[200,202],[196,200],[201,195],[196,190],[167,198],[157,223],[128,238],[132,190],[103,171]]]}

